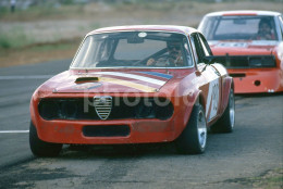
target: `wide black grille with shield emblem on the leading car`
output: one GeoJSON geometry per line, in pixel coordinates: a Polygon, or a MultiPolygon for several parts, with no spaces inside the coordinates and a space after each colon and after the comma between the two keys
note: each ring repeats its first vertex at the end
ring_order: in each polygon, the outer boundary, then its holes
{"type": "Polygon", "coordinates": [[[38,104],[39,115],[45,119],[99,121],[125,118],[168,119],[173,114],[173,105],[165,98],[113,98],[111,106],[110,104],[99,105],[95,99],[41,99],[38,104]]]}

